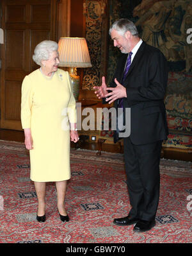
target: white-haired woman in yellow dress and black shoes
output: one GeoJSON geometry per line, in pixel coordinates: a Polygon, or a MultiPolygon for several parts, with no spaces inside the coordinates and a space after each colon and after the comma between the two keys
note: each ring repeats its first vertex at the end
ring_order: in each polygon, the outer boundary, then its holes
{"type": "Polygon", "coordinates": [[[76,100],[68,72],[58,69],[56,42],[40,42],[33,60],[40,69],[22,82],[21,122],[30,154],[30,178],[35,182],[38,198],[36,219],[45,221],[45,185],[56,182],[60,219],[68,221],[65,193],[70,179],[70,141],[79,139],[76,100]]]}

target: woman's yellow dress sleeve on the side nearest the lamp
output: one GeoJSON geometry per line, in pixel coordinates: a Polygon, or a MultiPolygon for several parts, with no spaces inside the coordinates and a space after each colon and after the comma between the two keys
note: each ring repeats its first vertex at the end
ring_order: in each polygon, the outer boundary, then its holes
{"type": "Polygon", "coordinates": [[[77,112],[76,112],[76,99],[74,98],[74,94],[72,92],[72,82],[70,80],[70,76],[67,72],[68,85],[70,88],[70,101],[67,107],[67,115],[69,123],[77,123],[77,112]]]}

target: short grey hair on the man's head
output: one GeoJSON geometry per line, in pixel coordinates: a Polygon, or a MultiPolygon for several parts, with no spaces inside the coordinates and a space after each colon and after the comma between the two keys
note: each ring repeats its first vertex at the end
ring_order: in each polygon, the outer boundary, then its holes
{"type": "Polygon", "coordinates": [[[122,36],[124,36],[125,32],[127,31],[130,31],[131,34],[134,36],[139,35],[135,24],[132,21],[129,21],[129,19],[120,19],[118,21],[115,21],[109,29],[109,35],[111,35],[112,30],[118,31],[118,33],[122,36]]]}

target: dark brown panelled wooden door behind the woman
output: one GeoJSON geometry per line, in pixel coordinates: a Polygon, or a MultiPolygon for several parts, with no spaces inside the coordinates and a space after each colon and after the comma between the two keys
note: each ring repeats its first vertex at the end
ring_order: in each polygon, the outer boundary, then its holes
{"type": "Polygon", "coordinates": [[[57,0],[1,0],[1,128],[22,130],[22,80],[38,68],[32,60],[36,44],[57,40],[57,4],[57,0]]]}

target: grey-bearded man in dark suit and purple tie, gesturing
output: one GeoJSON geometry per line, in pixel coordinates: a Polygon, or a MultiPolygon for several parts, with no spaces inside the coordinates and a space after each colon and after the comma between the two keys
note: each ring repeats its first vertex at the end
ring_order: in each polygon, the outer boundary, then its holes
{"type": "MultiPolygon", "coordinates": [[[[124,137],[125,172],[131,210],[124,218],[114,219],[120,226],[134,225],[134,232],[145,232],[156,225],[159,202],[159,160],[162,141],[167,139],[164,94],[168,80],[166,59],[159,49],[147,45],[134,23],[120,19],[109,33],[122,53],[115,76],[107,87],[94,87],[98,98],[114,107],[131,108],[131,134],[124,137]]],[[[124,114],[125,118],[125,114],[124,114]]],[[[124,120],[124,124],[125,124],[124,120]]],[[[114,141],[119,139],[115,131],[114,141]]]]}

